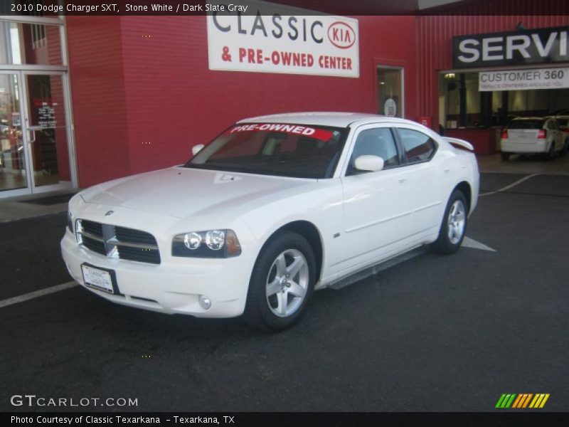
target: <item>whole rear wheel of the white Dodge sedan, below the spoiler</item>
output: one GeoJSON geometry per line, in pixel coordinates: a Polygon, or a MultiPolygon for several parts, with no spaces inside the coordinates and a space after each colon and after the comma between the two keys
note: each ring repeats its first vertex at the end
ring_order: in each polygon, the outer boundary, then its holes
{"type": "Polygon", "coordinates": [[[442,217],[439,237],[431,248],[438,253],[454,253],[458,251],[467,231],[467,200],[460,190],[452,191],[445,215],[442,217]]]}

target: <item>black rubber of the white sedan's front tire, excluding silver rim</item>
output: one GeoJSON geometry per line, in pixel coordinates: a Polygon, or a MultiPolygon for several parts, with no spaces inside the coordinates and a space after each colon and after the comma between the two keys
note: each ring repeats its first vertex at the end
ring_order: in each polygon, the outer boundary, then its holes
{"type": "Polygon", "coordinates": [[[261,249],[251,273],[247,302],[245,305],[245,321],[248,322],[250,326],[261,330],[280,331],[291,327],[302,316],[304,308],[314,290],[315,281],[316,260],[312,247],[307,240],[292,231],[282,231],[272,236],[261,249]],[[309,268],[309,283],[307,286],[307,295],[305,295],[302,305],[298,310],[288,317],[279,317],[270,310],[265,288],[272,263],[280,253],[287,249],[296,249],[302,252],[302,255],[306,258],[309,268]]]}

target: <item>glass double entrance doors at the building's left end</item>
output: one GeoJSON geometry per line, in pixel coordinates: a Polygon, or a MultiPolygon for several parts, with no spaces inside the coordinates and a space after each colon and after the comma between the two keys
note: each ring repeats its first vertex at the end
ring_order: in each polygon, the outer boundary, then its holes
{"type": "Polygon", "coordinates": [[[0,71],[0,198],[73,188],[64,78],[0,71]]]}

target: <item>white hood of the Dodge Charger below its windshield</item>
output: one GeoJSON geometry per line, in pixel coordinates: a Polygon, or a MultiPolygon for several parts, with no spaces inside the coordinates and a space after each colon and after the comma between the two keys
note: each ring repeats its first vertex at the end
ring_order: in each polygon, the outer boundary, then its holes
{"type": "Polygon", "coordinates": [[[122,206],[187,218],[230,214],[238,206],[260,203],[275,193],[312,184],[314,179],[218,172],[172,167],[116,179],[81,192],[90,204],[122,206]]]}

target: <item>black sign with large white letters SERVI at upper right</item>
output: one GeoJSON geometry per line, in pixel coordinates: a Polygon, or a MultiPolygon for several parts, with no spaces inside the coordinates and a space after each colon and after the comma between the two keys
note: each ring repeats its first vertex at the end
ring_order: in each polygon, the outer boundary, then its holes
{"type": "Polygon", "coordinates": [[[454,68],[569,61],[569,27],[453,38],[454,68]]]}

